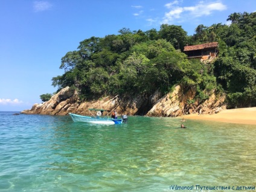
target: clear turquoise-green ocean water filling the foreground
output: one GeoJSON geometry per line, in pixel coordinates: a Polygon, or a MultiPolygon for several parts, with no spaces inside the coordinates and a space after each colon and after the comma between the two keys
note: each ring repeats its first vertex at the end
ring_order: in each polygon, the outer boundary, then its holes
{"type": "Polygon", "coordinates": [[[0,112],[0,191],[256,185],[252,125],[188,120],[180,129],[178,118],[129,117],[127,124],[106,126],[14,113],[0,112]]]}

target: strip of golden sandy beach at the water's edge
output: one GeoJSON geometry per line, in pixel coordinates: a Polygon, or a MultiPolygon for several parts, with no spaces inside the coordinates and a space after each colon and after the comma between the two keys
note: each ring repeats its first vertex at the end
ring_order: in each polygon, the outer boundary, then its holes
{"type": "MultiPolygon", "coordinates": [[[[239,124],[254,124],[256,125],[256,107],[239,108],[239,109],[226,109],[213,115],[184,115],[185,120],[208,120],[220,121],[225,123],[239,123],[239,124]]],[[[256,128],[256,126],[255,126],[256,128]]]]}

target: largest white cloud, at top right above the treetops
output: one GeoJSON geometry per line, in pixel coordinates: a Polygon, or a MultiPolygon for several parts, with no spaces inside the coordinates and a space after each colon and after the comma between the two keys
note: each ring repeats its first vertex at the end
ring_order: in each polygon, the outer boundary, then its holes
{"type": "Polygon", "coordinates": [[[165,4],[170,11],[165,13],[164,18],[162,19],[162,23],[168,24],[172,22],[174,19],[179,18],[198,18],[201,16],[207,16],[213,13],[213,11],[223,11],[226,10],[226,5],[222,4],[220,1],[205,3],[200,1],[199,4],[191,6],[191,7],[178,7],[173,5],[178,5],[178,1],[170,2],[169,4],[165,4]]]}

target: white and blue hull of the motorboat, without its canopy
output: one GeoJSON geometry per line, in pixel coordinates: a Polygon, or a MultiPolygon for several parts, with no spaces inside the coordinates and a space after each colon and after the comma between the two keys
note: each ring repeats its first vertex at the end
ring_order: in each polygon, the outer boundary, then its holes
{"type": "Polygon", "coordinates": [[[72,120],[74,122],[83,122],[83,123],[93,123],[93,124],[121,124],[123,123],[122,119],[112,119],[112,118],[104,118],[104,117],[89,117],[77,114],[71,114],[72,120]]]}

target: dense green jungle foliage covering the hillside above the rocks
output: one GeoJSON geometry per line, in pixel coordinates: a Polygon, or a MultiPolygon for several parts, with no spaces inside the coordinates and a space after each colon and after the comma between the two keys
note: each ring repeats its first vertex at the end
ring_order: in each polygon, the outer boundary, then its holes
{"type": "Polygon", "coordinates": [[[81,100],[106,95],[149,97],[174,86],[193,86],[206,100],[213,89],[225,92],[228,107],[256,106],[256,13],[232,13],[231,25],[199,25],[193,36],[181,26],[162,24],[160,30],[130,31],[91,37],[62,57],[63,75],[53,77],[58,91],[77,89],[81,100]],[[219,42],[219,57],[210,64],[188,60],[185,45],[219,42]]]}

